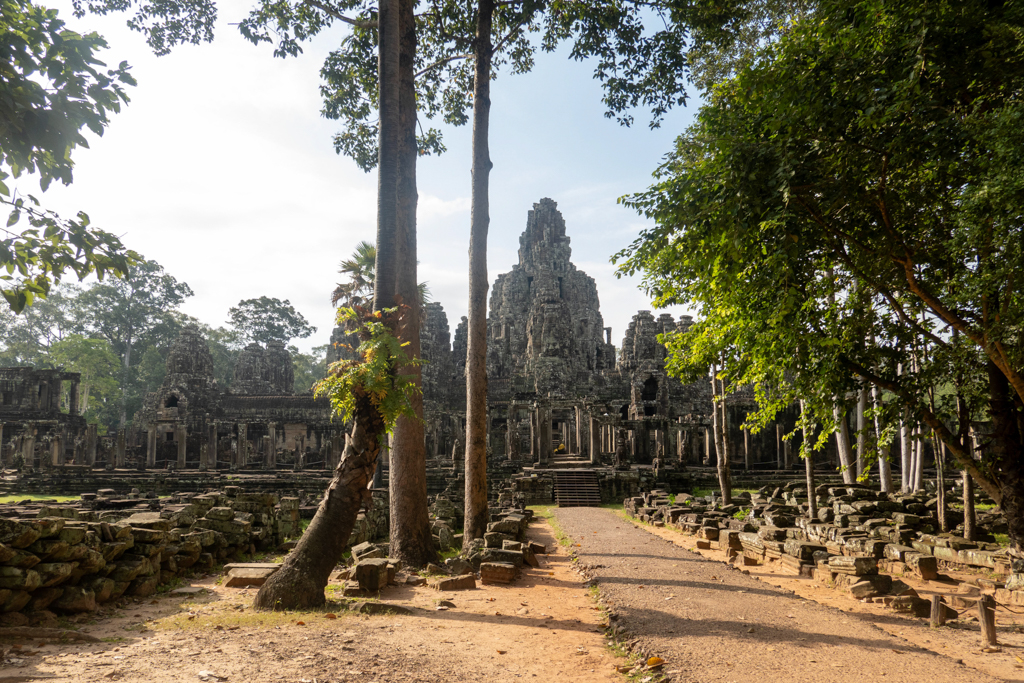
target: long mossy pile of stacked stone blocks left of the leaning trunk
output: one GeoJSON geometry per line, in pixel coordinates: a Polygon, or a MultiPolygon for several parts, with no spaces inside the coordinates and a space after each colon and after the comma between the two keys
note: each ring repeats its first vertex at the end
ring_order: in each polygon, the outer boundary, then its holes
{"type": "MultiPolygon", "coordinates": [[[[0,623],[52,620],[122,596],[146,597],[194,570],[301,533],[300,500],[239,486],[167,499],[113,490],[73,504],[0,506],[0,623]]],[[[366,516],[364,515],[364,518],[366,516]]],[[[364,522],[362,532],[377,522],[364,522]]]]}

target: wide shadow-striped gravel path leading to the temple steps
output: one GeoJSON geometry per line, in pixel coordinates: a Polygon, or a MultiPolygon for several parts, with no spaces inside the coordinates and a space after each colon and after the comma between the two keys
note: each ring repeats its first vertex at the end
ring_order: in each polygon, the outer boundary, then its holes
{"type": "Polygon", "coordinates": [[[998,679],[842,610],[805,600],[609,510],[562,508],[605,601],[674,681],[922,681],[998,679]]]}

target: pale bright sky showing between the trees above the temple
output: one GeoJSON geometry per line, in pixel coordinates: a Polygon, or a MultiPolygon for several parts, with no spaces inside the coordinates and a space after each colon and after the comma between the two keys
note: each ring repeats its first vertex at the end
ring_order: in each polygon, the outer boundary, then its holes
{"type": "MultiPolygon", "coordinates": [[[[213,327],[227,309],[260,296],[288,299],[317,332],[294,343],[326,344],[338,263],[376,232],[376,175],[334,152],[339,122],[321,117],[324,57],[340,42],[331,29],[287,59],[254,46],[231,26],[251,0],[219,3],[211,44],[155,56],[125,15],[76,19],[70,2],[47,2],[69,27],[96,31],[114,66],[127,60],[138,81],[131,101],[102,137],[78,150],[75,181],[52,186],[44,206],[82,210],[94,225],[156,259],[196,293],[182,309],[213,327]]],[[[534,203],[558,203],[572,261],[597,282],[605,326],[621,344],[630,318],[650,309],[639,281],[617,280],[610,256],[646,224],[616,199],[645,189],[688,125],[695,100],[650,130],[645,112],[624,128],[604,117],[593,65],[565,51],[539,53],[530,74],[492,84],[488,276],[517,261],[519,234],[534,203]]],[[[440,302],[454,335],[466,314],[470,128],[440,127],[447,152],[417,167],[419,278],[440,302]]],[[[14,183],[39,193],[35,181],[14,183]]],[[[677,316],[681,308],[669,309],[677,316]]]]}

